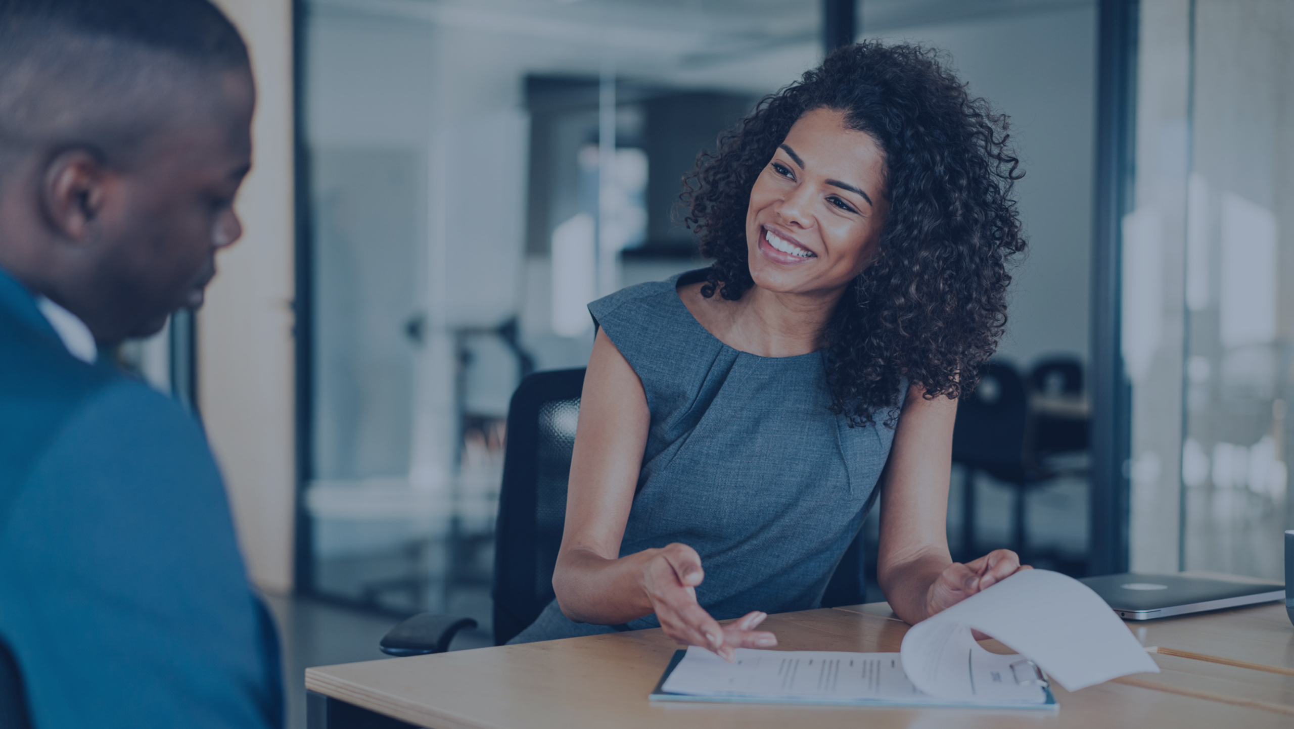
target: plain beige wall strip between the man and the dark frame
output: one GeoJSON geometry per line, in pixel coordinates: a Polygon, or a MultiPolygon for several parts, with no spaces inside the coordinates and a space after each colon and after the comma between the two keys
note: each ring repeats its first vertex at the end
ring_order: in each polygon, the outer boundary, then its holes
{"type": "Polygon", "coordinates": [[[198,315],[198,405],[224,470],[251,579],[292,587],[292,43],[289,0],[217,0],[256,75],[252,171],[198,315]]]}

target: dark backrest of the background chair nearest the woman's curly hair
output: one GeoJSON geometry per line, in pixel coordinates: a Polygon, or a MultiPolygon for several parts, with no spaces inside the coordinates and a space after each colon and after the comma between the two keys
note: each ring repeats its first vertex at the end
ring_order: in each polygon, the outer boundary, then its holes
{"type": "Polygon", "coordinates": [[[1027,412],[1029,397],[1020,374],[1009,364],[990,362],[980,386],[958,403],[952,460],[1003,481],[1022,481],[1027,412]]]}

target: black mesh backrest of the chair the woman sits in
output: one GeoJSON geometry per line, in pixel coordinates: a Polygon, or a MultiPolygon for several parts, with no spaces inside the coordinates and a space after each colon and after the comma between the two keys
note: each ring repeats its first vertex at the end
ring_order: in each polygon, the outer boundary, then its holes
{"type": "Polygon", "coordinates": [[[494,642],[524,631],[553,601],[584,368],[536,372],[507,410],[494,531],[494,642]]]}

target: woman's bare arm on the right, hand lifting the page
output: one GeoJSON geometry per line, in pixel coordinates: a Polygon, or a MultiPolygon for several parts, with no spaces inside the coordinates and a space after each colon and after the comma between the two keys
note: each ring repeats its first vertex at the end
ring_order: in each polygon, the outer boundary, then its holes
{"type": "Polygon", "coordinates": [[[925,399],[912,385],[881,474],[877,579],[894,613],[908,623],[965,600],[1020,569],[1020,557],[996,549],[969,564],[949,555],[949,478],[958,402],[925,399]]]}

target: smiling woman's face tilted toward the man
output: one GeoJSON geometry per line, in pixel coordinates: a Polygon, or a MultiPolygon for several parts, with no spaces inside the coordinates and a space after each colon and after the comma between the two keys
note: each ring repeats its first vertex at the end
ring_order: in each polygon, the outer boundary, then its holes
{"type": "Polygon", "coordinates": [[[809,111],[751,190],[751,277],[779,293],[842,291],[871,262],[888,211],[876,141],[840,111],[809,111]]]}

